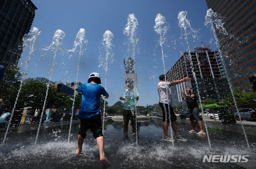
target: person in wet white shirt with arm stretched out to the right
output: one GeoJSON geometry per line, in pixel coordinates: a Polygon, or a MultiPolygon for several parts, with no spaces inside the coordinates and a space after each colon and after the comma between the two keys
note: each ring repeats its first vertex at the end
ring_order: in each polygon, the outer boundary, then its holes
{"type": "Polygon", "coordinates": [[[164,135],[162,137],[162,140],[169,141],[169,142],[172,141],[172,138],[168,136],[168,127],[171,120],[171,126],[172,126],[172,129],[174,130],[174,140],[187,141],[186,138],[183,138],[178,134],[177,121],[176,121],[177,117],[174,114],[174,110],[172,108],[172,96],[170,92],[170,87],[176,84],[179,84],[181,82],[190,81],[191,78],[185,77],[181,80],[166,82],[165,75],[161,75],[159,76],[159,80],[160,80],[158,83],[159,105],[162,108],[163,130],[164,130],[164,135]]]}

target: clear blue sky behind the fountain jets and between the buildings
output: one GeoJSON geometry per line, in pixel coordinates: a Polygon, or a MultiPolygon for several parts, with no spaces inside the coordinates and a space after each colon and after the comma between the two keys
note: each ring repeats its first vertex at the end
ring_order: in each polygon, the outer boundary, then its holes
{"type": "MultiPolygon", "coordinates": [[[[184,38],[181,38],[181,29],[178,26],[178,12],[187,11],[193,29],[198,30],[198,40],[193,42],[190,37],[190,50],[201,47],[201,42],[209,43],[211,32],[204,26],[204,18],[208,10],[204,0],[32,0],[38,8],[32,27],[37,27],[41,34],[37,38],[36,51],[28,64],[27,77],[49,78],[49,67],[53,61],[53,53],[42,54],[41,48],[52,43],[52,37],[57,29],[65,33],[63,51],[71,49],[80,28],[85,29],[88,41],[87,49],[80,61],[78,81],[86,83],[91,72],[101,75],[102,86],[105,87],[105,70],[99,67],[99,47],[103,33],[108,29],[113,33],[112,39],[113,64],[110,65],[107,75],[106,91],[110,94],[107,100],[109,105],[119,101],[124,92],[124,65],[123,58],[128,58],[128,48],[124,45],[126,36],[123,28],[130,13],[138,19],[137,38],[138,53],[135,55],[135,70],[138,76],[139,105],[153,105],[158,103],[157,92],[158,77],[164,73],[158,45],[159,36],[155,33],[155,17],[161,13],[170,24],[167,32],[167,45],[164,47],[166,71],[171,69],[180,58],[182,52],[187,50],[184,38]],[[185,45],[184,45],[185,44],[185,45]]],[[[214,50],[216,46],[212,44],[214,50]]],[[[24,58],[28,51],[23,52],[24,58]]],[[[57,66],[54,67],[52,81],[72,82],[76,80],[78,57],[64,53],[57,54],[57,66]],[[63,64],[64,63],[64,64],[63,64]]],[[[20,64],[24,59],[20,60],[20,64]]]]}

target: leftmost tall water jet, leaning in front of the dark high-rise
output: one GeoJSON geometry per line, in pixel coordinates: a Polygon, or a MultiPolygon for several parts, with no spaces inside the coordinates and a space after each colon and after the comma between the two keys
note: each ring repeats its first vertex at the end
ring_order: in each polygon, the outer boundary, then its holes
{"type": "Polygon", "coordinates": [[[11,117],[10,117],[7,129],[6,129],[6,132],[5,132],[3,143],[5,142],[5,139],[6,139],[10,124],[11,124],[12,116],[14,114],[14,110],[15,110],[15,107],[16,107],[16,104],[17,104],[17,101],[18,101],[18,97],[20,96],[20,91],[21,91],[21,87],[22,87],[22,84],[23,84],[23,81],[24,81],[24,78],[25,78],[25,75],[26,75],[28,63],[30,61],[30,58],[31,58],[32,54],[34,53],[34,50],[35,50],[34,49],[34,44],[36,43],[36,39],[37,39],[37,37],[40,33],[41,32],[38,32],[38,28],[33,27],[32,30],[28,34],[25,34],[22,38],[23,48],[26,47],[26,46],[29,47],[30,53],[28,54],[28,58],[25,62],[25,64],[26,64],[25,71],[23,72],[23,75],[22,75],[22,79],[21,79],[21,83],[20,83],[20,89],[18,90],[18,94],[17,94],[16,100],[15,100],[15,103],[14,103],[14,107],[12,109],[11,117]]]}

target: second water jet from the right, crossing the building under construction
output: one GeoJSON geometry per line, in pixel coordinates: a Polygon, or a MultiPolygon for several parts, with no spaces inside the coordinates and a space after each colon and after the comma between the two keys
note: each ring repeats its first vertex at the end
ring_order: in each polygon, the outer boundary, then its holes
{"type": "Polygon", "coordinates": [[[200,96],[200,93],[199,93],[199,88],[198,88],[198,83],[197,83],[197,78],[196,78],[196,73],[194,72],[194,67],[193,67],[193,64],[192,64],[192,56],[190,54],[190,46],[189,46],[189,43],[188,43],[188,33],[187,33],[187,28],[190,28],[190,31],[191,31],[191,34],[192,36],[195,38],[195,34],[193,33],[193,29],[191,28],[191,25],[190,25],[190,22],[187,20],[186,18],[187,16],[187,11],[181,11],[178,13],[178,21],[179,21],[179,26],[182,29],[184,29],[184,35],[185,35],[185,40],[186,40],[186,43],[187,43],[187,47],[188,47],[188,59],[190,60],[190,65],[191,65],[191,68],[192,68],[192,74],[193,74],[193,78],[196,82],[196,88],[197,88],[197,94],[198,94],[198,97],[199,97],[199,102],[200,102],[200,105],[201,105],[201,111],[202,111],[202,116],[203,116],[203,120],[204,120],[204,125],[206,127],[206,133],[207,133],[207,138],[208,138],[208,143],[209,143],[209,147],[211,148],[211,144],[210,144],[210,138],[209,138],[209,133],[208,133],[208,129],[207,129],[207,124],[206,124],[206,120],[205,120],[205,117],[204,117],[204,111],[203,111],[203,106],[202,106],[202,100],[201,100],[201,96],[200,96]]]}

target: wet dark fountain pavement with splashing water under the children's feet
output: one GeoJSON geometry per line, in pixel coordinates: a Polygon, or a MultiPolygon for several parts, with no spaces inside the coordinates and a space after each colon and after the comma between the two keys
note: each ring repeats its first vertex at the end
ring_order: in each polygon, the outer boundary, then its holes
{"type": "MultiPolygon", "coordinates": [[[[7,140],[0,145],[0,168],[102,168],[96,140],[90,131],[84,141],[82,154],[76,155],[79,120],[73,121],[70,143],[69,121],[43,124],[37,145],[34,145],[38,125],[20,125],[11,128],[7,140]]],[[[160,118],[140,119],[139,143],[136,147],[132,127],[129,140],[122,141],[123,121],[107,118],[105,122],[105,154],[112,163],[109,168],[255,168],[256,126],[245,126],[250,144],[240,125],[207,122],[212,148],[207,136],[188,133],[188,120],[178,119],[178,132],[187,142],[163,142],[160,118]],[[247,155],[247,163],[203,163],[204,156],[247,155]]],[[[129,124],[130,125],[130,124],[129,124]]],[[[1,142],[5,129],[0,129],[1,142]]],[[[231,160],[230,160],[231,161],[231,160]]]]}

